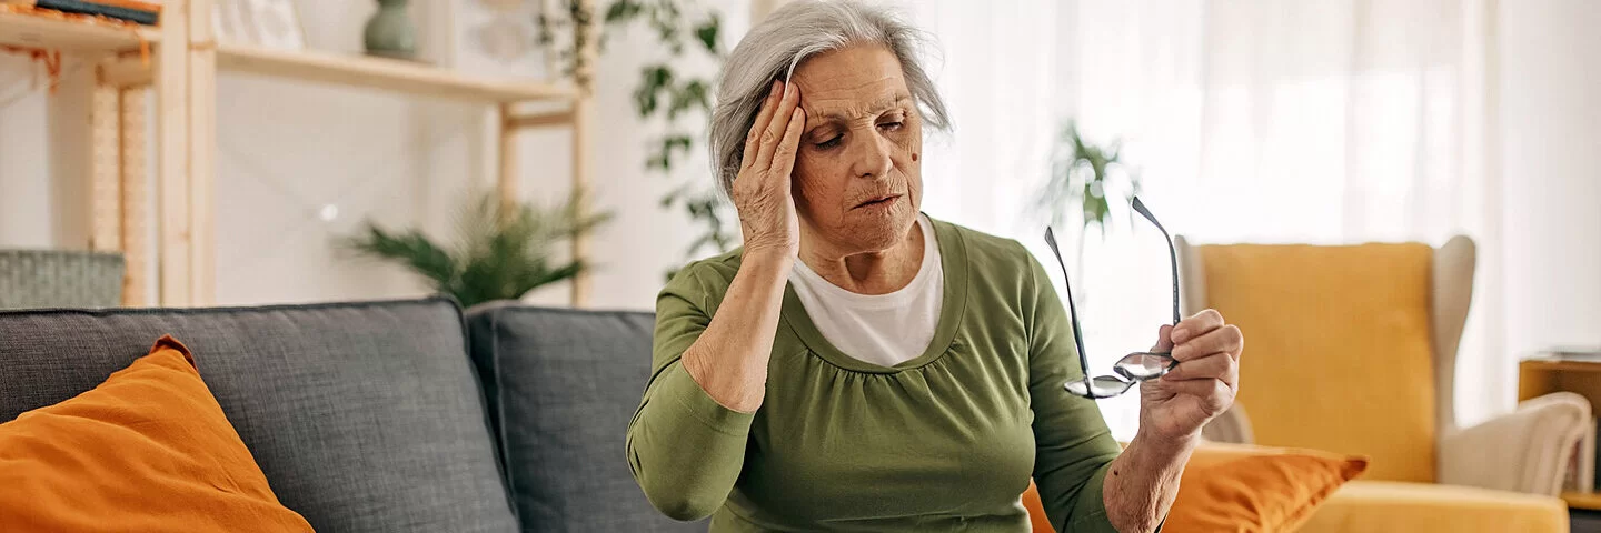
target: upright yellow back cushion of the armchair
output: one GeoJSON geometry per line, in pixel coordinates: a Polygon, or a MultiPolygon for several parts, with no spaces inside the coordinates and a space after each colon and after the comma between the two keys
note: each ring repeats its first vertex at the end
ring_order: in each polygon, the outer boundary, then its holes
{"type": "Polygon", "coordinates": [[[1434,480],[1433,248],[1198,248],[1207,304],[1246,335],[1236,402],[1257,443],[1362,455],[1366,479],[1434,480]]]}

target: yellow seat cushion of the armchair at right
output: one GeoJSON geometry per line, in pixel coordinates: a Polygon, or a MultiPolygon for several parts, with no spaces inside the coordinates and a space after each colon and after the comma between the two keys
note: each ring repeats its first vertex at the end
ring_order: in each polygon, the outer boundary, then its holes
{"type": "Polygon", "coordinates": [[[1567,506],[1551,496],[1487,488],[1369,482],[1346,483],[1298,533],[1566,533],[1567,506]]]}

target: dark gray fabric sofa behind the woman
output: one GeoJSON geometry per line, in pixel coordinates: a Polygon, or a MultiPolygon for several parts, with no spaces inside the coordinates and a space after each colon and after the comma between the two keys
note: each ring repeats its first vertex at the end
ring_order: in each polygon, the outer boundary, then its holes
{"type": "Polygon", "coordinates": [[[451,299],[0,312],[0,423],[173,335],[319,531],[704,531],[628,472],[652,315],[451,299]]]}

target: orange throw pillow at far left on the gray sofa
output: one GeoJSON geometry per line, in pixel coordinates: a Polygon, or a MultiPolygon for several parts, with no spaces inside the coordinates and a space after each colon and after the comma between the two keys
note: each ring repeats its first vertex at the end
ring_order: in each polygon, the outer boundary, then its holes
{"type": "Polygon", "coordinates": [[[0,424],[0,531],[311,530],[170,336],[93,391],[0,424]]]}

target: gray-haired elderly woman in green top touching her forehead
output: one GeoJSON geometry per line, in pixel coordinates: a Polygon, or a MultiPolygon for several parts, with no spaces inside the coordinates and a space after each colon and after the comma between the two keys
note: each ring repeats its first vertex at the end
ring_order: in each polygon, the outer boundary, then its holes
{"type": "MultiPolygon", "coordinates": [[[[744,246],[660,293],[628,431],[645,496],[712,531],[1153,531],[1201,427],[1233,403],[1239,330],[1161,327],[1119,448],[1050,279],[1015,240],[919,213],[924,128],[946,128],[916,30],[796,2],[730,53],[711,125],[744,246]]],[[[972,179],[983,179],[973,176],[972,179]]]]}

